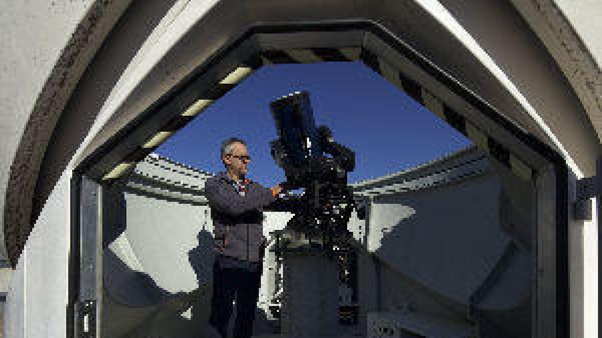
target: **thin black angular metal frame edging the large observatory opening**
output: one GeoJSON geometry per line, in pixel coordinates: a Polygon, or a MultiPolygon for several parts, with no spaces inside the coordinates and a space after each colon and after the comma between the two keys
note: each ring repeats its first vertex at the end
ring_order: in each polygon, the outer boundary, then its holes
{"type": "MultiPolygon", "coordinates": [[[[418,54],[403,41],[400,41],[391,32],[386,31],[382,26],[376,22],[370,20],[347,20],[344,22],[320,22],[320,23],[279,23],[279,24],[265,24],[265,25],[254,25],[246,31],[242,32],[238,37],[226,43],[213,57],[209,58],[202,66],[198,67],[191,75],[179,82],[178,85],[169,90],[161,99],[157,100],[151,107],[146,109],[129,123],[121,131],[117,132],[110,140],[103,144],[99,149],[88,156],[82,163],[76,168],[73,173],[72,179],[72,224],[71,224],[71,248],[69,253],[69,305],[67,313],[67,336],[74,337],[73,327],[73,310],[75,304],[78,301],[77,295],[81,288],[81,275],[79,274],[80,269],[80,255],[79,250],[73,250],[81,248],[82,243],[81,236],[85,236],[79,230],[79,188],[81,185],[82,174],[88,174],[89,171],[95,167],[99,162],[104,162],[108,156],[110,156],[111,150],[120,144],[123,140],[134,134],[140,128],[143,128],[144,121],[151,117],[157,118],[160,115],[162,109],[169,107],[171,103],[178,102],[178,105],[186,105],[187,103],[193,103],[194,97],[184,97],[185,90],[190,85],[194,84],[194,81],[202,78],[206,74],[210,73],[214,68],[219,68],[220,63],[225,59],[231,52],[235,52],[236,49],[243,45],[246,41],[252,40],[255,34],[279,34],[279,33],[290,33],[290,32],[345,32],[345,31],[365,31],[371,32],[383,41],[392,46],[396,51],[402,54],[412,63],[417,64],[421,69],[426,71],[430,76],[435,78],[441,84],[453,91],[453,93],[462,97],[467,103],[474,106],[486,117],[494,121],[504,130],[510,132],[517,140],[523,144],[527,144],[530,149],[541,155],[546,159],[552,166],[555,177],[555,201],[556,201],[556,233],[555,241],[556,248],[554,252],[550,253],[556,257],[556,271],[555,271],[555,292],[556,292],[556,325],[555,332],[556,338],[569,337],[569,289],[568,289],[568,168],[565,164],[564,159],[554,149],[538,140],[533,135],[527,134],[512,121],[495,111],[491,106],[484,102],[479,97],[475,96],[466,88],[462,87],[459,82],[455,79],[450,78],[447,74],[442,72],[441,69],[435,67],[429,60],[418,54]],[[187,102],[190,101],[190,102],[187,102]]],[[[173,106],[172,106],[173,108],[173,106]]],[[[93,175],[93,177],[95,177],[93,175]]],[[[98,176],[96,176],[98,177],[98,176]]]]}

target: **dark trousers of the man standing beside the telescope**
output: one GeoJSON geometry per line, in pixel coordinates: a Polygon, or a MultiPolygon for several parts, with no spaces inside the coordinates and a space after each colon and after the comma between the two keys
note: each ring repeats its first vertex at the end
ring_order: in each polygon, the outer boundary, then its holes
{"type": "Polygon", "coordinates": [[[232,315],[232,301],[236,297],[234,338],[249,338],[253,334],[253,320],[261,284],[261,267],[258,271],[244,268],[222,268],[213,265],[213,298],[209,323],[222,338],[226,338],[228,321],[232,315]]]}

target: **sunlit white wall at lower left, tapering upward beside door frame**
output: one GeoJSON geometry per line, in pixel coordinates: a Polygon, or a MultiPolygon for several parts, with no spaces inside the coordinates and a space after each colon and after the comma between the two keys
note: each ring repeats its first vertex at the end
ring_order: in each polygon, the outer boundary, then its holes
{"type": "Polygon", "coordinates": [[[64,174],[52,191],[29,236],[25,258],[19,260],[14,272],[7,297],[7,337],[66,335],[69,180],[64,174]]]}

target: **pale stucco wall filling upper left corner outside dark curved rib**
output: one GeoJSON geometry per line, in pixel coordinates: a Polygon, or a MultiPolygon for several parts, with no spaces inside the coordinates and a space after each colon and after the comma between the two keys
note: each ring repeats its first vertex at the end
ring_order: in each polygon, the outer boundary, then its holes
{"type": "MultiPolygon", "coordinates": [[[[0,210],[25,123],[70,35],[94,0],[2,1],[0,14],[0,210]],[[26,79],[26,81],[23,81],[26,79]],[[18,84],[18,85],[17,85],[18,84]]],[[[0,232],[4,253],[4,231],[0,232]]]]}

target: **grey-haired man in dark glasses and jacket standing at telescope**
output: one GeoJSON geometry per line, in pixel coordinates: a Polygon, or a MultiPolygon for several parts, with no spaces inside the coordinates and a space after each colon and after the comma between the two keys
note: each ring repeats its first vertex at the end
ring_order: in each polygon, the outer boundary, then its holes
{"type": "Polygon", "coordinates": [[[266,246],[262,210],[268,204],[275,208],[282,186],[267,189],[246,178],[250,158],[243,140],[226,140],[220,153],[226,172],[205,182],[217,250],[209,323],[226,338],[232,301],[236,298],[234,338],[249,338],[266,246]]]}

